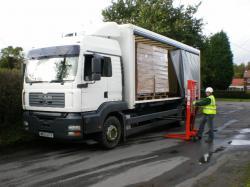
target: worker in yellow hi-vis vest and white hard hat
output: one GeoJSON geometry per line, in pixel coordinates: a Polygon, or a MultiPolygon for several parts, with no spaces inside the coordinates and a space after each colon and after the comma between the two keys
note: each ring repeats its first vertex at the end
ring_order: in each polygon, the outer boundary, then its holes
{"type": "Polygon", "coordinates": [[[206,96],[207,97],[204,99],[194,101],[193,105],[202,107],[202,113],[203,113],[203,118],[198,130],[198,138],[202,139],[202,134],[204,131],[205,124],[206,122],[208,122],[209,131],[208,131],[208,139],[206,140],[206,142],[211,143],[214,140],[213,120],[216,114],[216,101],[213,95],[213,88],[211,87],[206,88],[206,96]]]}

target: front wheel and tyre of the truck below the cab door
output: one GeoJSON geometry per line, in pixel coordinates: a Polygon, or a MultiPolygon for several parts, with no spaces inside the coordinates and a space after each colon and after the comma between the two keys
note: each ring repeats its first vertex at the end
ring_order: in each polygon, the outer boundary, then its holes
{"type": "Polygon", "coordinates": [[[121,123],[114,117],[108,117],[103,124],[100,143],[107,149],[112,149],[118,145],[121,139],[121,123]]]}

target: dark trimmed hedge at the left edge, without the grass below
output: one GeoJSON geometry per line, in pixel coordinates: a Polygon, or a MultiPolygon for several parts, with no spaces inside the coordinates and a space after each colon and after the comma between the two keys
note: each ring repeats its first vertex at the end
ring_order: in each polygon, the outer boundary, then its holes
{"type": "Polygon", "coordinates": [[[20,70],[0,68],[0,128],[22,117],[22,78],[20,70]]]}

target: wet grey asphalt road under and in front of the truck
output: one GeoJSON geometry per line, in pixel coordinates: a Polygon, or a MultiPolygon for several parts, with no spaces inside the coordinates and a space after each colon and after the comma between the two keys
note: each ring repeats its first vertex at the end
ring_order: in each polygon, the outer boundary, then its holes
{"type": "Polygon", "coordinates": [[[91,142],[40,140],[0,155],[0,186],[193,186],[225,163],[225,156],[250,151],[250,102],[218,102],[215,126],[212,144],[206,137],[198,142],[163,137],[181,127],[142,133],[109,151],[91,142]]]}

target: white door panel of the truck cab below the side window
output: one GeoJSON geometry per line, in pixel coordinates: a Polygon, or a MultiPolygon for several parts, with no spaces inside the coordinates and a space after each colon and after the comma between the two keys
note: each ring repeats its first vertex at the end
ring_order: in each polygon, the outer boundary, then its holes
{"type": "MultiPolygon", "coordinates": [[[[102,72],[100,80],[90,81],[88,76],[91,73],[91,60],[93,58],[93,55],[86,54],[84,55],[84,57],[83,79],[85,82],[87,82],[87,86],[86,88],[82,88],[82,111],[94,111],[97,110],[101,104],[108,101],[106,97],[106,94],[108,92],[108,77],[105,77],[102,72]]],[[[104,68],[103,62],[101,68],[104,68]]]]}

